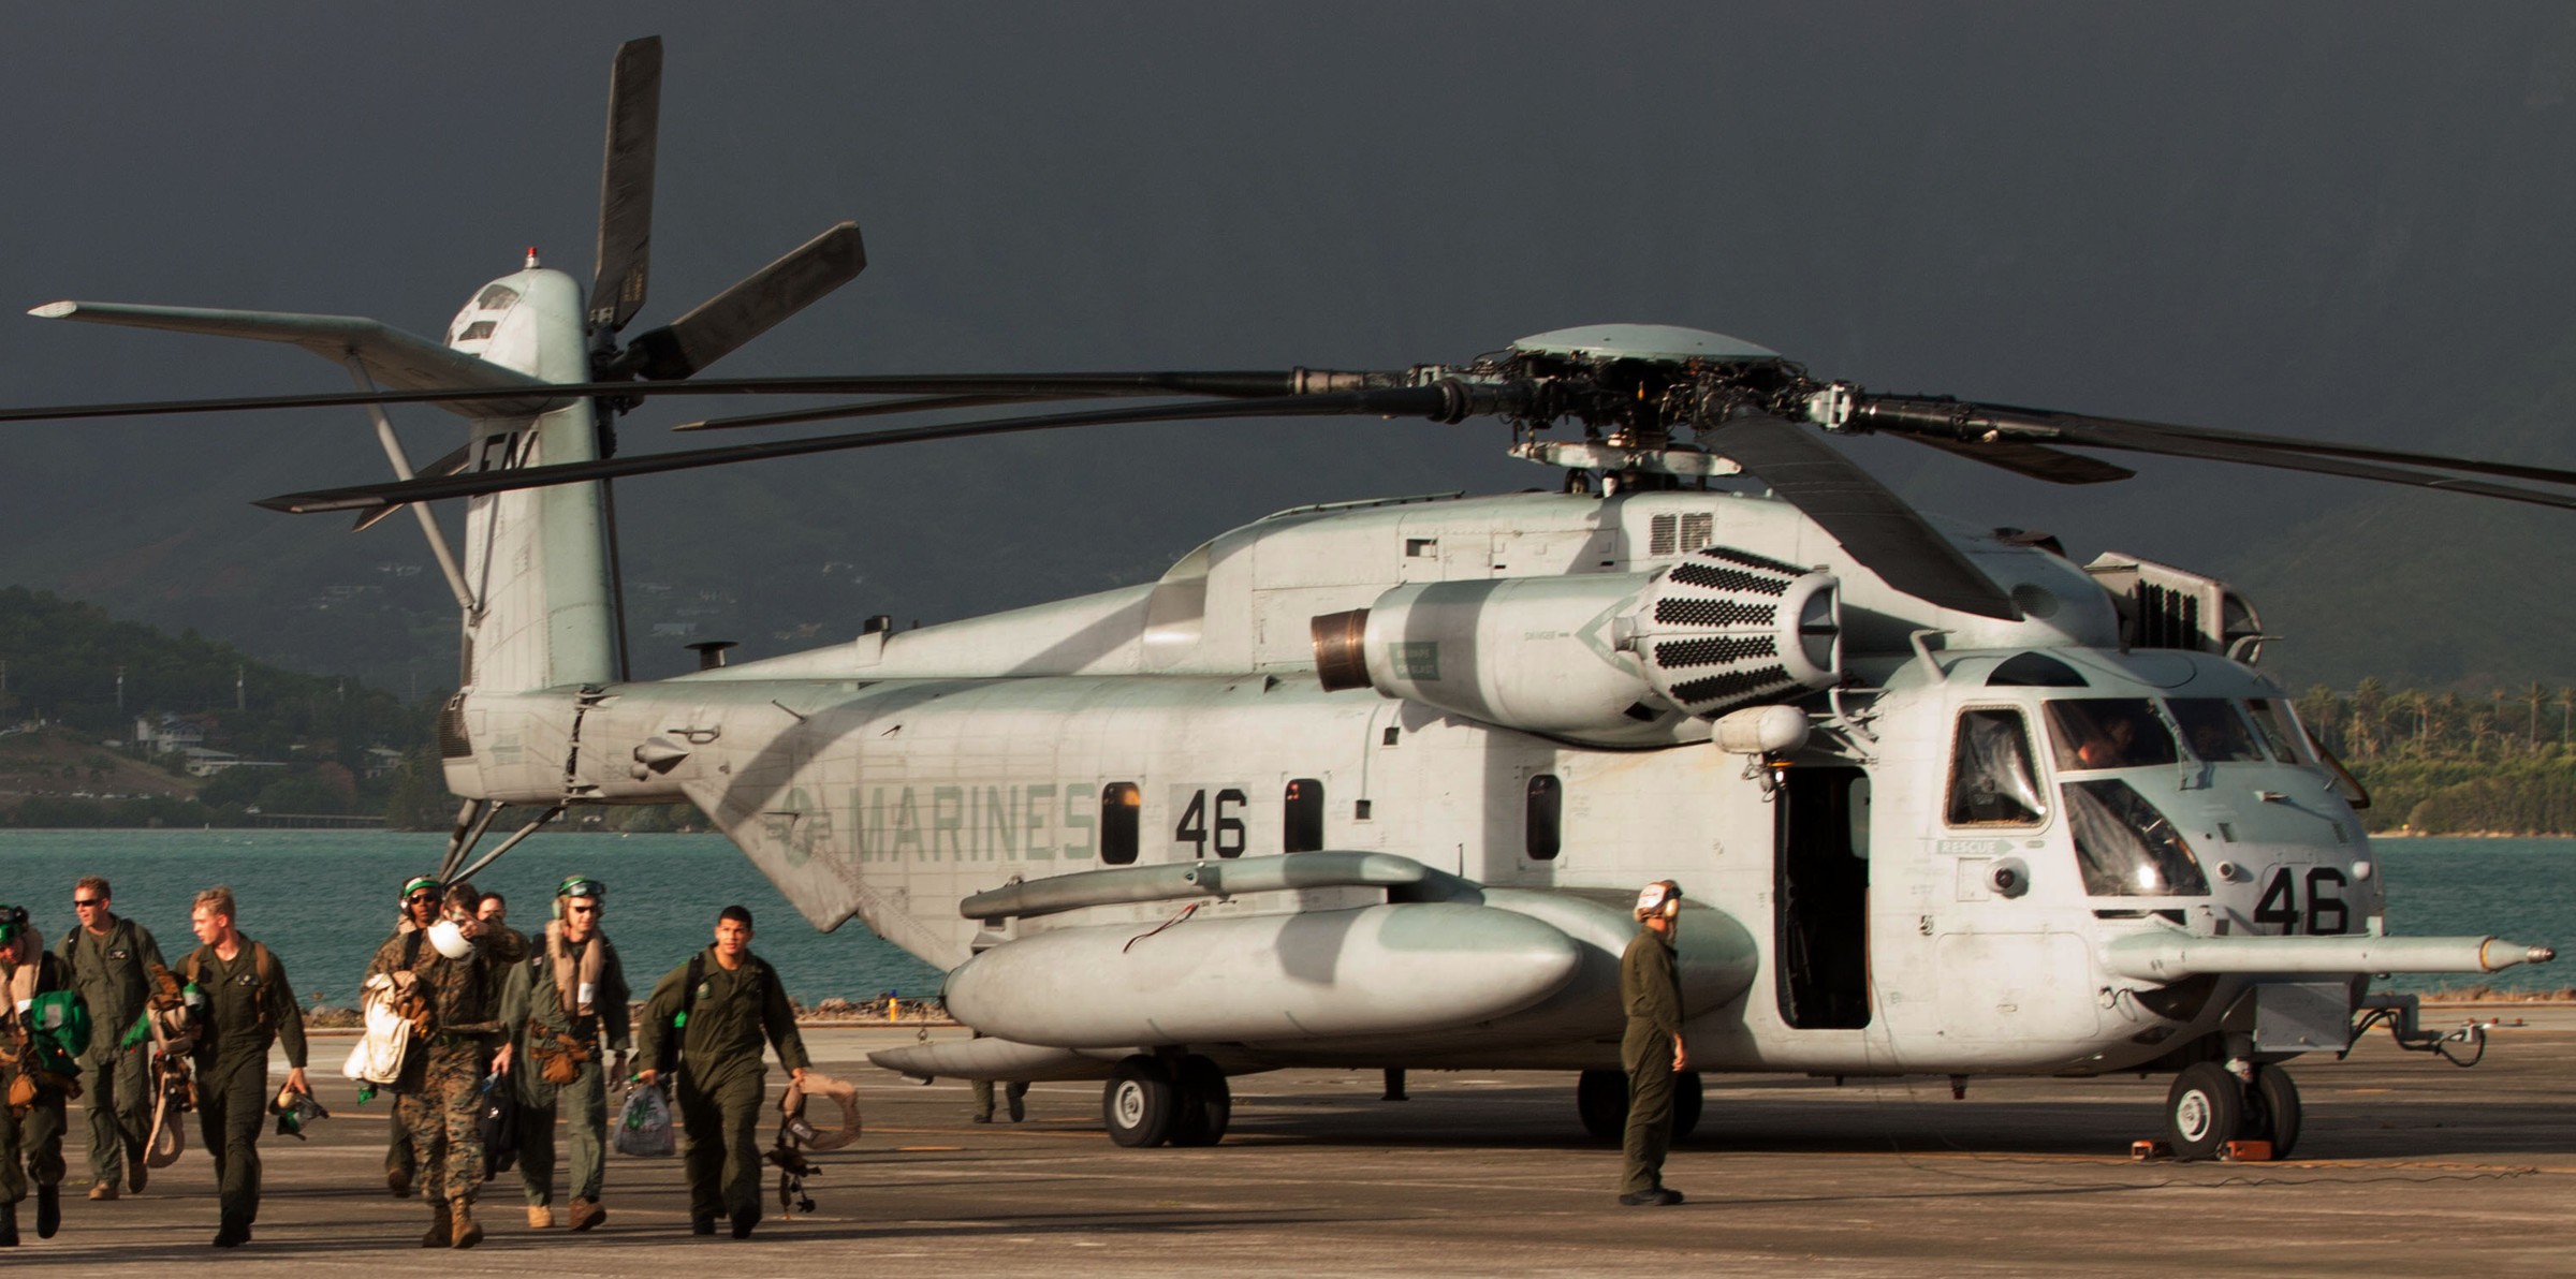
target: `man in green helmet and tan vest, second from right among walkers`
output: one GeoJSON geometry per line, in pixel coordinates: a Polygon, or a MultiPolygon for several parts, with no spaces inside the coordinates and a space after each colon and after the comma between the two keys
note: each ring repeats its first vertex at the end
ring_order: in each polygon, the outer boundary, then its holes
{"type": "MultiPolygon", "coordinates": [[[[492,898],[484,898],[487,903],[492,898]]],[[[564,1109],[572,1140],[572,1210],[564,1225],[590,1230],[608,1220],[600,1179],[608,1171],[608,1081],[626,1078],[626,968],[600,932],[608,885],[574,875],[554,888],[554,919],[528,962],[510,970],[502,1022],[518,1040],[520,1135],[518,1184],[528,1194],[528,1228],[554,1225],[554,1114],[564,1109]],[[567,1060],[554,1063],[556,1053],[567,1060]],[[616,1053],[616,1063],[608,1063],[616,1053]],[[569,1060],[580,1058],[580,1060],[569,1060]],[[549,1083],[549,1068],[567,1083],[549,1083]]]]}

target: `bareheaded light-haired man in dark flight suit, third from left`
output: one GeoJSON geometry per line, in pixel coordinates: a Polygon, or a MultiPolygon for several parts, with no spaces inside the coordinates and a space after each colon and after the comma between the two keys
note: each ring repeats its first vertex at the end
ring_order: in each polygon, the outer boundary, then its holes
{"type": "Polygon", "coordinates": [[[268,1045],[286,1045],[286,1086],[312,1094],[304,1083],[304,1009],[296,1006],[286,965],[232,926],[232,888],[196,896],[188,924],[196,929],[196,955],[180,965],[198,1009],[196,1032],[196,1114],[214,1176],[222,1184],[216,1248],[250,1243],[250,1222],[260,1217],[260,1125],[268,1119],[268,1045]]]}

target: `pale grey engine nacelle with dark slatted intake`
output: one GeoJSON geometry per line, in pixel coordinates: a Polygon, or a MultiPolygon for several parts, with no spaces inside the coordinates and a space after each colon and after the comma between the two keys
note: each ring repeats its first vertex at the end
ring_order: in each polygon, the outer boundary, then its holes
{"type": "Polygon", "coordinates": [[[1716,546],[1654,574],[1404,584],[1316,618],[1314,651],[1327,690],[1605,746],[1842,677],[1834,576],[1716,546]]]}

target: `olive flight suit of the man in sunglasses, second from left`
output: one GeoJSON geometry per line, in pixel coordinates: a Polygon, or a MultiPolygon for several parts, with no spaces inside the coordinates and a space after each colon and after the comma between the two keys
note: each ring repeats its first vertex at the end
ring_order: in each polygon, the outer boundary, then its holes
{"type": "Polygon", "coordinates": [[[160,942],[142,924],[108,916],[106,937],[72,926],[54,944],[72,968],[72,988],[90,1006],[90,1050],[80,1055],[82,1101],[90,1109],[90,1181],[142,1189],[144,1140],[152,1137],[152,1037],[118,1047],[144,1014],[160,942]],[[134,1176],[131,1186],[126,1176],[134,1176]]]}

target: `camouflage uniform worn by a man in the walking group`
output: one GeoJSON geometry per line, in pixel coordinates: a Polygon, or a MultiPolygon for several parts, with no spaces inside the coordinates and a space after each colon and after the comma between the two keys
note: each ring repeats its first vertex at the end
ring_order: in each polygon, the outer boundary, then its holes
{"type": "Polygon", "coordinates": [[[428,944],[394,934],[366,965],[366,975],[410,968],[430,1001],[433,1032],[415,1040],[394,1083],[394,1122],[410,1137],[420,1166],[420,1194],[430,1202],[430,1230],[474,1202],[484,1179],[482,1081],[505,1042],[500,1022],[502,980],[523,955],[515,934],[497,929],[471,955],[451,960],[428,944]],[[410,957],[410,965],[404,960],[410,957]]]}

